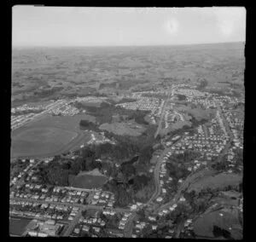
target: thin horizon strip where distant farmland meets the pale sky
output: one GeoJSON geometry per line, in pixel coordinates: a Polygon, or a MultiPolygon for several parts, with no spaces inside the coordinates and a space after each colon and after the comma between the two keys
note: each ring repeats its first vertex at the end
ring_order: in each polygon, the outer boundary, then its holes
{"type": "Polygon", "coordinates": [[[101,48],[101,47],[170,47],[170,46],[187,46],[187,45],[201,45],[201,44],[221,44],[221,43],[246,43],[243,41],[233,42],[213,42],[213,43],[175,43],[175,44],[142,44],[142,45],[13,45],[12,48],[101,48]]]}

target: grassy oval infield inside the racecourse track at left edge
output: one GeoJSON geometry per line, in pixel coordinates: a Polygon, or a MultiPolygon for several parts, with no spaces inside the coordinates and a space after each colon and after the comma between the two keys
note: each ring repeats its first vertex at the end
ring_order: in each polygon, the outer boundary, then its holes
{"type": "Polygon", "coordinates": [[[55,127],[31,127],[12,137],[11,156],[55,153],[77,135],[76,132],[55,127]]]}

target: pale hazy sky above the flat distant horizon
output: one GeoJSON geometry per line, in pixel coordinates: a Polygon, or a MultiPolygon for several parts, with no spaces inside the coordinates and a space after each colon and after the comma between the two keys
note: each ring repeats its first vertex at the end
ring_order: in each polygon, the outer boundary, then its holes
{"type": "Polygon", "coordinates": [[[13,7],[14,46],[245,41],[246,9],[13,7]]]}

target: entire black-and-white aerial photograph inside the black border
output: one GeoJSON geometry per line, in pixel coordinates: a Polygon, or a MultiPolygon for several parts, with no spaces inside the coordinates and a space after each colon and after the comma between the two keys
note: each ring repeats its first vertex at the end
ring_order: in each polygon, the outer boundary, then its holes
{"type": "Polygon", "coordinates": [[[243,239],[246,9],[12,8],[10,237],[243,239]]]}

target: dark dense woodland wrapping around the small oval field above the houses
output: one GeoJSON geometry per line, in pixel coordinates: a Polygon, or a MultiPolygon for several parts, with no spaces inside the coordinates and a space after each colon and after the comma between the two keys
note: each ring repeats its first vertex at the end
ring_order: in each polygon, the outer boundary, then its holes
{"type": "MultiPolygon", "coordinates": [[[[118,138],[117,138],[118,139],[118,138]]],[[[68,186],[68,176],[78,175],[80,171],[99,169],[107,171],[107,175],[113,177],[103,189],[115,194],[116,203],[126,206],[133,202],[135,194],[148,186],[150,178],[146,175],[138,175],[135,165],[147,166],[153,148],[149,145],[139,147],[135,141],[119,139],[116,145],[104,143],[90,145],[79,151],[79,157],[74,160],[61,160],[60,156],[50,162],[46,167],[38,170],[45,184],[55,186],[68,186]],[[113,160],[128,159],[119,168],[109,161],[97,161],[97,158],[112,158],[113,160]]]]}

